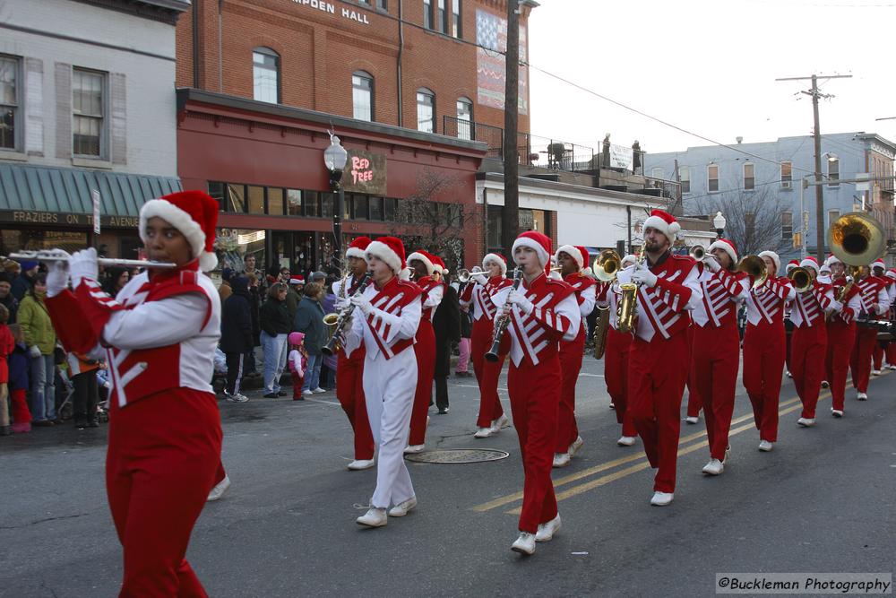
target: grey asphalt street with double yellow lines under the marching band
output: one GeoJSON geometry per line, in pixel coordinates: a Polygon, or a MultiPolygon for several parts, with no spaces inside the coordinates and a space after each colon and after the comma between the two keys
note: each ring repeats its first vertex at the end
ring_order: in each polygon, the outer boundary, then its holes
{"type": "MultiPolygon", "coordinates": [[[[692,596],[717,572],[892,572],[896,555],[896,372],[867,402],[847,394],[797,428],[785,380],[779,442],[757,451],[743,388],[731,457],[717,478],[702,419],[682,424],[675,501],[650,507],[653,472],[619,426],[603,362],[578,383],[585,445],[554,471],[563,528],[531,558],[510,550],[522,468],[513,428],[472,438],[474,378],[451,378],[451,412],[432,414],[427,449],[495,448],[478,464],[409,464],[419,506],[380,529],[355,524],[375,471],[349,472],[348,421],[332,393],[220,403],[233,486],[208,504],[188,552],[211,596],[692,596]]],[[[500,384],[505,408],[506,382],[500,384]]],[[[685,399],[686,401],[686,399],[685,399]]],[[[684,415],[684,407],[683,407],[684,415]]],[[[121,550],[103,488],[105,428],[72,425],[0,438],[0,595],[114,596],[121,550]]]]}

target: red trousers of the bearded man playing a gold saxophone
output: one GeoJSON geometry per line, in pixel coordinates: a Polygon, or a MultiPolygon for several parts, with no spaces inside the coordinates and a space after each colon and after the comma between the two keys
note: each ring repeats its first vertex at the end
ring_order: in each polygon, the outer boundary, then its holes
{"type": "Polygon", "coordinates": [[[657,469],[653,490],[675,492],[681,399],[691,366],[687,333],[668,340],[656,334],[650,342],[635,337],[628,363],[628,410],[657,469]]]}

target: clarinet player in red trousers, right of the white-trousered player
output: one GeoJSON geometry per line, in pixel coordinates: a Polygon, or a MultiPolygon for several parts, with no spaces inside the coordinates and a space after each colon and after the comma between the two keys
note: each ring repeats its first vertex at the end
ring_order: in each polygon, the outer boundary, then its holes
{"type": "Polygon", "coordinates": [[[535,542],[550,541],[560,529],[551,481],[563,380],[559,342],[573,341],[582,324],[573,288],[547,277],[551,254],[550,238],[534,230],[522,233],[513,241],[513,261],[522,269],[520,288],[497,297],[496,322],[510,318],[507,388],[525,472],[520,536],[511,550],[527,555],[535,552],[535,542]]]}

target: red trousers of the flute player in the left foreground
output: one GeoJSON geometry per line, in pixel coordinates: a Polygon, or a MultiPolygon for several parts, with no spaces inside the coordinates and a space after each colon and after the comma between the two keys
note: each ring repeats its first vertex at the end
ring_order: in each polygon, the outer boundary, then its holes
{"type": "Polygon", "coordinates": [[[106,492],[125,550],[119,596],[206,596],[185,554],[220,465],[215,395],[175,388],[109,418],[106,492]]]}

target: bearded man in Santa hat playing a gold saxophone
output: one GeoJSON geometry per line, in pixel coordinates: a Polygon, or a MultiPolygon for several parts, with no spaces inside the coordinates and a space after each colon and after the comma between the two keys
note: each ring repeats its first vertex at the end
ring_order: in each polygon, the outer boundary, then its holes
{"type": "Polygon", "coordinates": [[[628,409],[650,466],[657,469],[650,504],[662,507],[675,498],[681,401],[691,365],[688,312],[702,297],[694,259],[670,251],[681,225],[671,214],[653,210],[643,226],[647,263],[626,268],[616,279],[641,286],[629,353],[628,409]]]}

